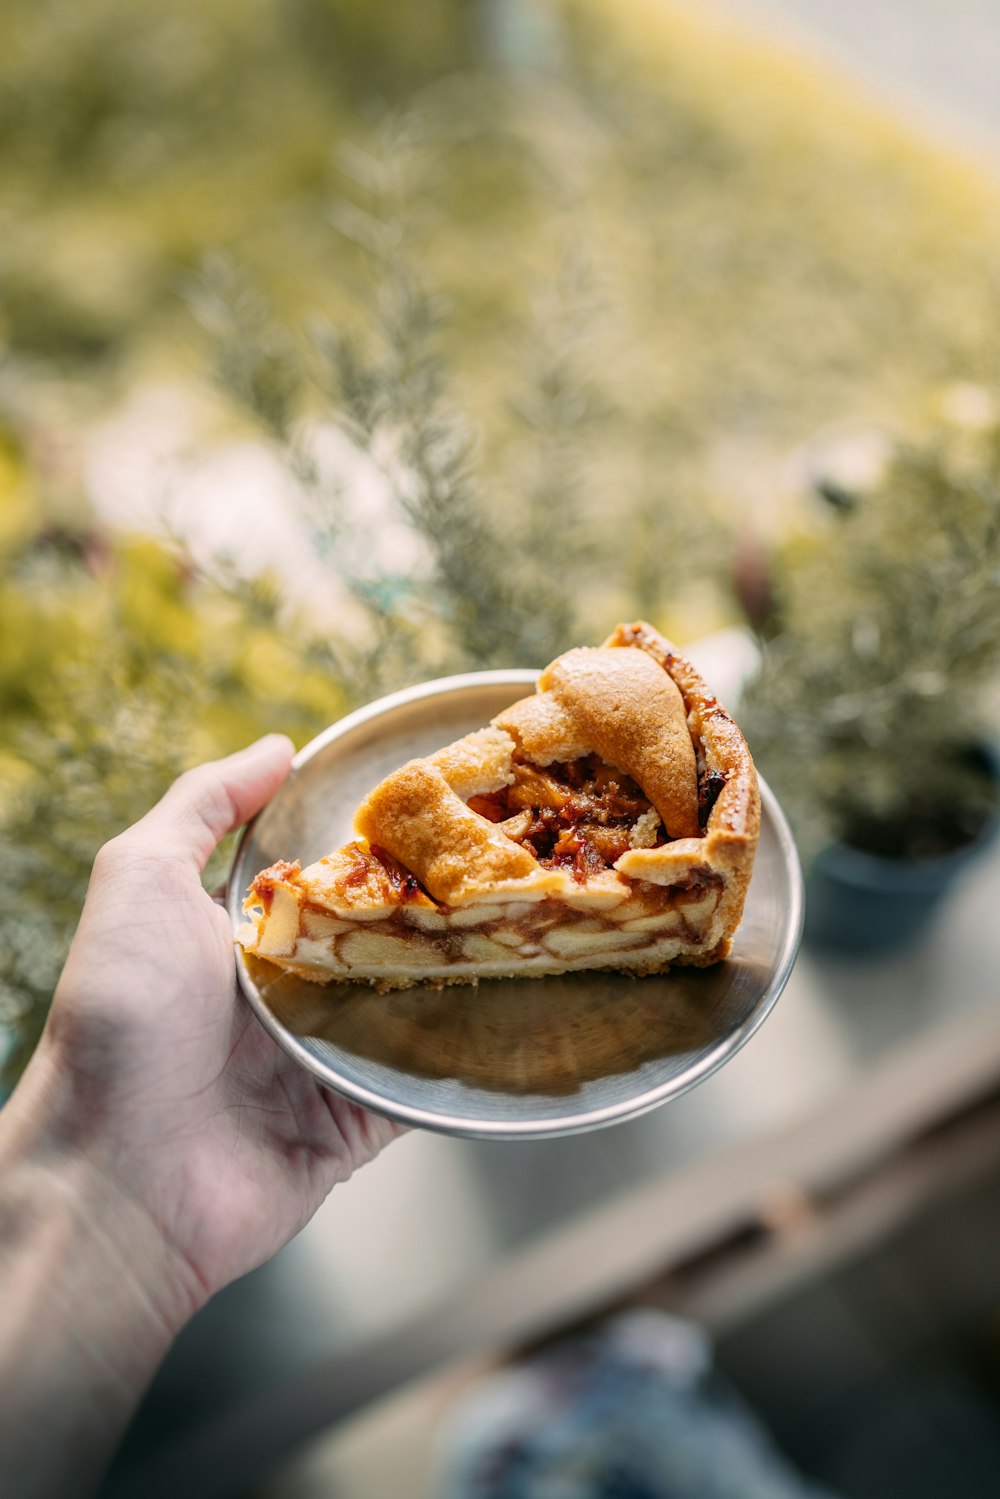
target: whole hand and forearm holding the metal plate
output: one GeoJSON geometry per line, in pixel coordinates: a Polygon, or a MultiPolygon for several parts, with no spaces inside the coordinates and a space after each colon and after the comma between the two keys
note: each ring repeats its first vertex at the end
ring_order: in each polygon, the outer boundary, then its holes
{"type": "Polygon", "coordinates": [[[0,1112],[0,1493],[88,1493],[192,1312],[399,1133],[256,1022],[199,880],[291,752],[270,736],[189,770],[94,862],[0,1112]]]}

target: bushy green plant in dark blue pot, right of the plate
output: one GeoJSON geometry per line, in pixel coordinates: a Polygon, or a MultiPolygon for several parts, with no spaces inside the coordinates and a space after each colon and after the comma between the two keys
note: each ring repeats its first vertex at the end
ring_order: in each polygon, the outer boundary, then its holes
{"type": "Polygon", "coordinates": [[[846,949],[918,935],[997,823],[1000,412],[963,387],[943,414],[813,465],[817,523],[775,570],[745,705],[807,934],[846,949]]]}

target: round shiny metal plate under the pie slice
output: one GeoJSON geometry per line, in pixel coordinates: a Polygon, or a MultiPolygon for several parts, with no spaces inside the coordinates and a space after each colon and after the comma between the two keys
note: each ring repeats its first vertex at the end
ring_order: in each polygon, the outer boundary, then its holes
{"type": "MultiPolygon", "coordinates": [[[[303,865],[351,836],[384,775],[523,697],[532,672],[475,672],[384,697],[301,750],[244,830],[226,908],[234,931],[253,875],[303,865]]],[[[237,949],[240,985],[274,1039],[321,1082],[381,1114],[451,1135],[538,1138],[631,1118],[702,1082],[753,1036],[792,971],[802,874],[766,787],[744,922],[712,968],[645,979],[583,973],[376,994],[280,974],[237,949]]]]}

